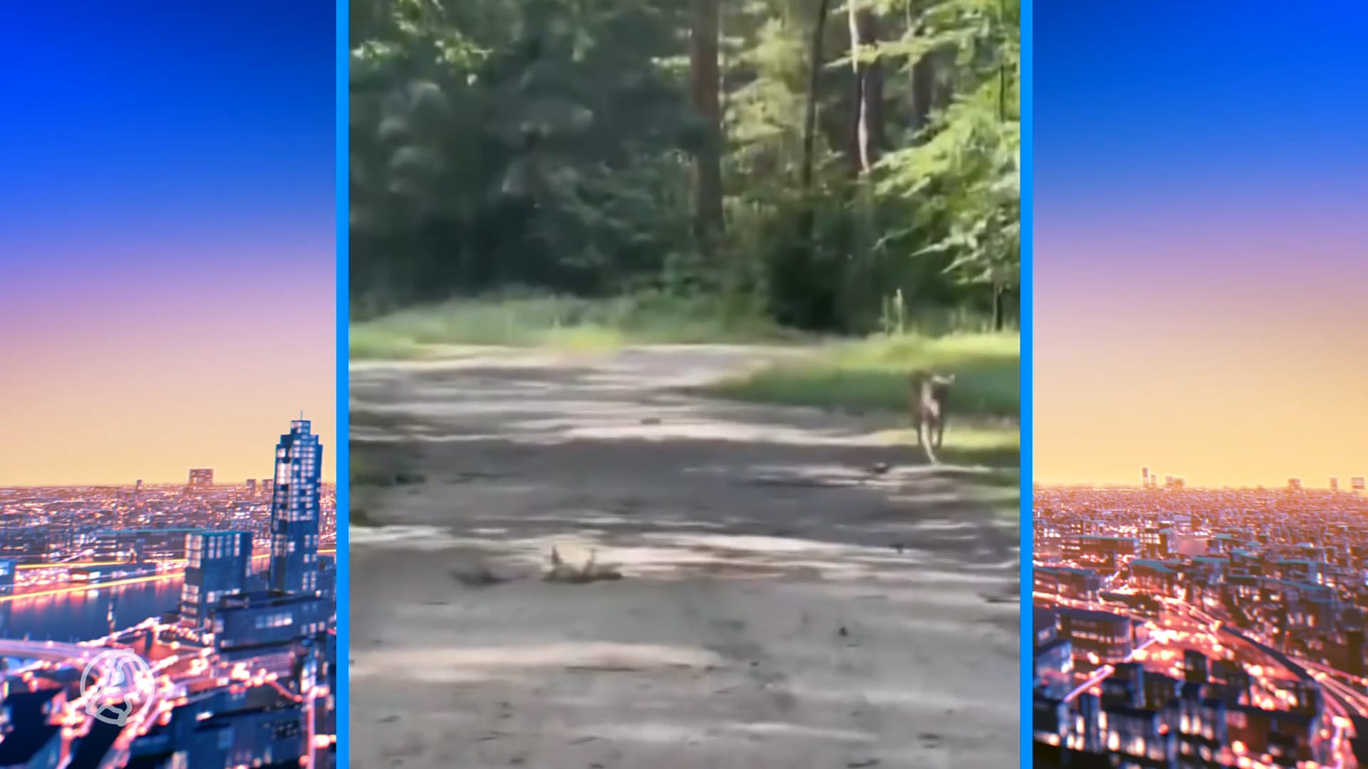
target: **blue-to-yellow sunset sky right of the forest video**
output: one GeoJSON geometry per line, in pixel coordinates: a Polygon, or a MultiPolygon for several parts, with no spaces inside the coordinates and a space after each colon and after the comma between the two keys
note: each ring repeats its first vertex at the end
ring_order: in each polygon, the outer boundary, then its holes
{"type": "Polygon", "coordinates": [[[1037,482],[1368,475],[1368,4],[1259,5],[1036,5],[1037,482]]]}

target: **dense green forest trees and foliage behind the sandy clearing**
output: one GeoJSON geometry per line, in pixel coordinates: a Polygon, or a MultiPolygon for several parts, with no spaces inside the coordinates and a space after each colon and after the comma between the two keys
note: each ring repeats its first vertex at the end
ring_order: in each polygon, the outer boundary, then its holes
{"type": "Polygon", "coordinates": [[[654,289],[1010,323],[1019,0],[850,1],[353,0],[353,308],[654,289]]]}

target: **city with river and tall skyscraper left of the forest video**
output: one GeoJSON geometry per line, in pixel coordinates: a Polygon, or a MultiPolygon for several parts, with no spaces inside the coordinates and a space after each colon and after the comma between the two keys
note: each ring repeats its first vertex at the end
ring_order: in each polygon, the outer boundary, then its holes
{"type": "Polygon", "coordinates": [[[0,488],[5,766],[335,765],[337,498],[276,435],[253,484],[0,488]]]}

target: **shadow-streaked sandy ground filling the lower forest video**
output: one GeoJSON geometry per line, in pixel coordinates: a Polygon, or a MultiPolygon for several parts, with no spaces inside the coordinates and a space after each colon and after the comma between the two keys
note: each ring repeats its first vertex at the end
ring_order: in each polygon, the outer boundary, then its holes
{"type": "Polygon", "coordinates": [[[1015,523],[871,423],[680,394],[773,354],[354,367],[353,457],[425,478],[353,497],[352,766],[1016,766],[1015,523]]]}

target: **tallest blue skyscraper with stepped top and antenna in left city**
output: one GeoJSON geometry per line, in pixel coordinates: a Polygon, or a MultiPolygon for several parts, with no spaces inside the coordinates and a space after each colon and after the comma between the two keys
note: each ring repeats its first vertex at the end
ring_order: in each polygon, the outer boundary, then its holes
{"type": "Polygon", "coordinates": [[[275,446],[271,497],[271,590],[313,594],[319,590],[319,476],[323,446],[309,420],[290,421],[275,446]]]}

